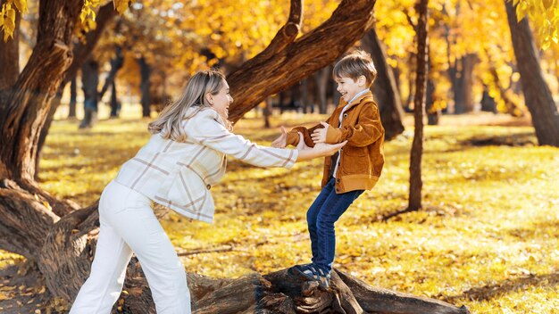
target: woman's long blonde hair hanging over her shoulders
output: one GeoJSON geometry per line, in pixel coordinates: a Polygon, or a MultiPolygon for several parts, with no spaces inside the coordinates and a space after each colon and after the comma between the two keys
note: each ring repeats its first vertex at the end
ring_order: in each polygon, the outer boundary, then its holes
{"type": "MultiPolygon", "coordinates": [[[[208,93],[217,95],[225,82],[225,76],[219,70],[201,70],[188,79],[187,86],[182,95],[175,102],[169,103],[156,120],[149,123],[147,129],[151,134],[160,134],[163,138],[176,142],[185,142],[187,134],[182,128],[182,121],[192,118],[204,108],[211,108],[206,99],[208,93]],[[190,108],[197,110],[187,116],[190,108]]],[[[230,122],[223,119],[226,127],[230,129],[230,122]]]]}

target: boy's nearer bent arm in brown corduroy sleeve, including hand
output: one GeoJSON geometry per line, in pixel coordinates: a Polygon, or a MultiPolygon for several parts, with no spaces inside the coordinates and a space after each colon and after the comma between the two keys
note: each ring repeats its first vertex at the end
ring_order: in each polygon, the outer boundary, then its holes
{"type": "Polygon", "coordinates": [[[359,113],[355,126],[328,128],[326,143],[347,141],[348,145],[363,147],[376,142],[380,136],[384,136],[384,128],[380,123],[379,109],[374,103],[368,103],[359,113]]]}

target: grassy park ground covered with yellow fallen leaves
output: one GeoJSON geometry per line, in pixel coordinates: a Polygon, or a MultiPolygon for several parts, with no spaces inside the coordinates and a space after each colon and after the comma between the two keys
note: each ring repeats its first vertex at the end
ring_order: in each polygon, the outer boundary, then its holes
{"type": "MultiPolygon", "coordinates": [[[[286,114],[272,125],[323,116],[286,114]]],[[[409,121],[409,120],[408,120],[409,121]]],[[[121,162],[145,144],[148,120],[102,120],[78,130],[56,121],[40,184],[82,205],[95,201],[121,162]]],[[[445,116],[425,129],[423,209],[406,207],[413,128],[385,145],[379,184],[337,224],[337,259],[371,285],[465,304],[475,313],[559,313],[559,150],[504,116],[445,116]]],[[[236,131],[269,144],[278,129],[242,120],[236,131]]],[[[305,211],[320,191],[321,161],[287,169],[229,162],[213,225],[171,214],[163,227],[190,272],[268,273],[310,259],[305,211]]],[[[0,267],[21,258],[0,252],[0,267]]],[[[17,289],[0,288],[9,298],[17,289]]],[[[4,294],[2,294],[4,293],[4,294]]],[[[1,298],[0,298],[1,299],[1,298]]]]}

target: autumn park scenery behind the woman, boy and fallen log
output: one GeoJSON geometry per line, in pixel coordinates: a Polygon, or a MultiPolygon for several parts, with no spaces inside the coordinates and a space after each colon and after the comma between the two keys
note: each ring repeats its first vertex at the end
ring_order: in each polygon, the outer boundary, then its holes
{"type": "MultiPolygon", "coordinates": [[[[270,145],[280,126],[328,117],[332,66],[359,47],[379,70],[386,164],[337,224],[335,267],[471,312],[559,312],[556,0],[71,1],[73,58],[58,66],[49,58],[66,54],[39,54],[62,28],[42,18],[56,3],[0,1],[0,311],[68,310],[87,272],[64,267],[90,262],[96,200],[196,70],[228,75],[236,132],[270,145]],[[410,173],[412,152],[421,174],[410,173]]],[[[288,269],[310,259],[305,211],[320,180],[321,160],[291,171],[231,161],[212,189],[213,225],[173,212],[161,221],[189,273],[288,269]]],[[[115,311],[133,302],[127,293],[115,311]]]]}

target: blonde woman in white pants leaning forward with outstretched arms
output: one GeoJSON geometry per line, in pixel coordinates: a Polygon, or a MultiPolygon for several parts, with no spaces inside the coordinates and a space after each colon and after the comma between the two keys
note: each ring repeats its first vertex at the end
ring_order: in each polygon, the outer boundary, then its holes
{"type": "Polygon", "coordinates": [[[149,124],[149,142],[122,165],[101,195],[95,258],[71,313],[110,313],[132,252],[146,274],[157,313],[190,313],[184,267],[150,202],[212,222],[210,188],[225,173],[226,155],[254,166],[291,168],[296,161],[331,155],[345,145],[310,149],[303,140],[296,150],[254,145],[231,133],[230,103],[221,72],[200,71],[179,100],[149,124]]]}

